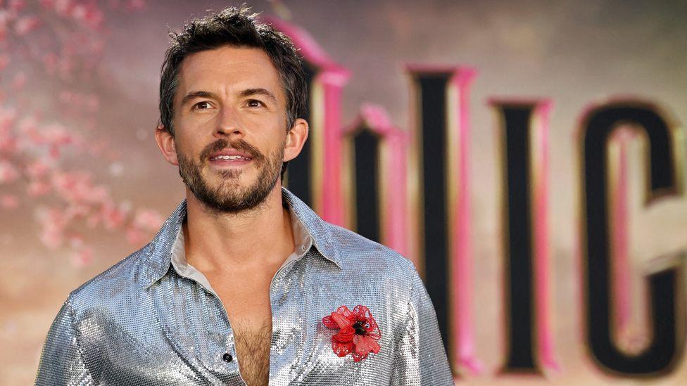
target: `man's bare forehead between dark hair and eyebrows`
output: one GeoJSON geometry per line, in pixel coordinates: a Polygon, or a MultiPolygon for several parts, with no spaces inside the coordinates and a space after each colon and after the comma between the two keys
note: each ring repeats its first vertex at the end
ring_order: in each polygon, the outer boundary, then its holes
{"type": "Polygon", "coordinates": [[[192,53],[179,67],[176,98],[188,91],[231,93],[263,88],[283,98],[279,73],[261,49],[222,46],[192,53]]]}

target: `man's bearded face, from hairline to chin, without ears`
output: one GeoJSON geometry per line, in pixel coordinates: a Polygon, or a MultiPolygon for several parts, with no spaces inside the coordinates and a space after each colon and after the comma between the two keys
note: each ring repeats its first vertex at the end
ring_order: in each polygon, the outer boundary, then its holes
{"type": "Polygon", "coordinates": [[[179,174],[198,200],[219,212],[265,200],[286,139],[286,98],[267,53],[226,46],[188,56],[174,112],[179,174]]]}

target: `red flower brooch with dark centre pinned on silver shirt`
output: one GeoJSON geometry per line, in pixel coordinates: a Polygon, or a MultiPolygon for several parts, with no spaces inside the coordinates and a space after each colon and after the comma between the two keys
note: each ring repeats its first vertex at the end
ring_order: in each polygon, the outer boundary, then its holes
{"type": "Polygon", "coordinates": [[[339,328],[339,333],[332,336],[332,349],[337,356],[351,354],[353,361],[358,362],[367,358],[370,352],[379,352],[377,340],[382,333],[367,307],[358,305],[351,311],[341,306],[331,315],[324,316],[322,323],[328,328],[339,328]]]}

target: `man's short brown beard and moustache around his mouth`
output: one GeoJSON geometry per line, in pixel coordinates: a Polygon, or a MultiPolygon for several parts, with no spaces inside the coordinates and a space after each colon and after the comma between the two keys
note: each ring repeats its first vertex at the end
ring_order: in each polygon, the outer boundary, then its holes
{"type": "Polygon", "coordinates": [[[238,213],[251,210],[263,203],[281,176],[283,158],[283,145],[266,157],[258,148],[243,139],[235,141],[219,139],[210,143],[203,149],[197,161],[184,157],[177,149],[179,175],[182,176],[184,184],[210,211],[218,213],[238,213]],[[218,173],[220,181],[214,186],[203,179],[203,165],[206,164],[210,154],[227,147],[251,156],[253,165],[258,170],[258,178],[251,186],[240,184],[241,169],[222,170],[218,173]]]}

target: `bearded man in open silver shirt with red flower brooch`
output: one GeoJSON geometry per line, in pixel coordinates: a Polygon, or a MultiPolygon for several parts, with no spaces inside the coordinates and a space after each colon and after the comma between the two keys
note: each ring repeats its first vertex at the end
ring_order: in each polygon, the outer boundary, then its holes
{"type": "Polygon", "coordinates": [[[156,141],[187,199],[69,295],[38,385],[453,385],[412,263],[282,188],[305,90],[291,41],[245,8],[172,34],[156,141]]]}

